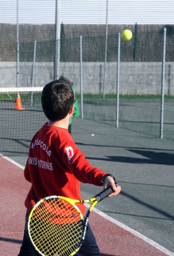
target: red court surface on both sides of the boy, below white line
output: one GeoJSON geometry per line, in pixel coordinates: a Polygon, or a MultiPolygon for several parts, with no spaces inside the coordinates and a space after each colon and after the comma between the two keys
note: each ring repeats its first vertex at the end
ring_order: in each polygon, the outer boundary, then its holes
{"type": "MultiPolygon", "coordinates": [[[[17,256],[25,224],[24,200],[30,184],[23,169],[8,158],[0,157],[0,256],[17,256]]],[[[109,218],[92,212],[90,225],[102,256],[165,256],[174,255],[165,248],[150,245],[131,232],[111,222],[109,218]]]]}

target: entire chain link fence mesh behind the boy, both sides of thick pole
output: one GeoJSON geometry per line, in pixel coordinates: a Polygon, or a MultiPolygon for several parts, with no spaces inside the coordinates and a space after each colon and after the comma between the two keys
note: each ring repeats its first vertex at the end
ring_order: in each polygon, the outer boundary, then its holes
{"type": "MultiPolygon", "coordinates": [[[[14,25],[0,26],[5,29],[3,35],[7,39],[6,29],[15,30],[11,26],[14,25]]],[[[54,26],[27,26],[37,36],[31,42],[26,27],[19,29],[19,86],[44,86],[54,79],[54,26]]],[[[174,52],[171,50],[174,29],[166,26],[166,31],[163,137],[174,140],[174,52]]],[[[133,26],[132,32],[131,40],[121,39],[120,42],[119,127],[160,137],[163,27],[153,29],[151,26],[145,30],[133,26]]],[[[13,33],[9,42],[5,40],[7,44],[1,39],[0,84],[6,87],[16,86],[16,37],[13,33]]],[[[83,117],[116,126],[118,33],[108,35],[106,63],[105,36],[82,37],[82,81],[80,38],[61,38],[60,75],[74,83],[80,109],[83,104],[83,117]]]]}

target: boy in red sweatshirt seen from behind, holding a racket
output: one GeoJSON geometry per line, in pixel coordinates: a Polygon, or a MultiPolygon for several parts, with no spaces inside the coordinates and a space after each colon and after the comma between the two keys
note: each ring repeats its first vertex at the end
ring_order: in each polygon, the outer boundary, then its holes
{"type": "MultiPolygon", "coordinates": [[[[25,199],[26,213],[45,196],[60,195],[81,200],[80,182],[104,185],[104,188],[110,185],[114,190],[110,196],[117,195],[121,190],[120,186],[115,186],[112,175],[91,166],[69,134],[69,118],[73,114],[74,101],[73,90],[65,81],[56,80],[43,88],[41,103],[49,121],[31,141],[24,170],[25,179],[32,184],[25,199]]],[[[84,213],[85,206],[78,206],[84,213]]],[[[77,255],[100,256],[90,226],[77,255]]],[[[18,256],[37,256],[25,232],[18,256]]]]}

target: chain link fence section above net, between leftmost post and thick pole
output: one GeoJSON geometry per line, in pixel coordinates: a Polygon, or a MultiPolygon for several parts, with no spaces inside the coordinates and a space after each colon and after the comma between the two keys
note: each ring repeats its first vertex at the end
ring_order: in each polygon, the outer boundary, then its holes
{"type": "Polygon", "coordinates": [[[53,62],[54,41],[19,43],[18,86],[44,86],[54,80],[53,62]]]}

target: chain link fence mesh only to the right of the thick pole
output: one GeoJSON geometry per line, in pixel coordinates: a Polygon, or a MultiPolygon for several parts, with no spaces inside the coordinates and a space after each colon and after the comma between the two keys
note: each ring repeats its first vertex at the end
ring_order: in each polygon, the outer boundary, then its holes
{"type": "MultiPolygon", "coordinates": [[[[83,117],[116,126],[118,34],[108,37],[105,99],[105,37],[83,37],[82,42],[83,117]]],[[[78,39],[76,43],[77,50],[78,39]]],[[[174,140],[174,55],[171,52],[173,46],[174,34],[168,29],[165,50],[163,137],[171,140],[174,140]]],[[[76,53],[74,58],[78,61],[79,53],[76,53]]],[[[121,40],[119,127],[160,137],[162,60],[163,29],[140,31],[138,35],[134,33],[130,41],[121,40]]],[[[69,78],[75,84],[76,98],[79,97],[81,103],[78,72],[79,66],[74,66],[69,78]]]]}

